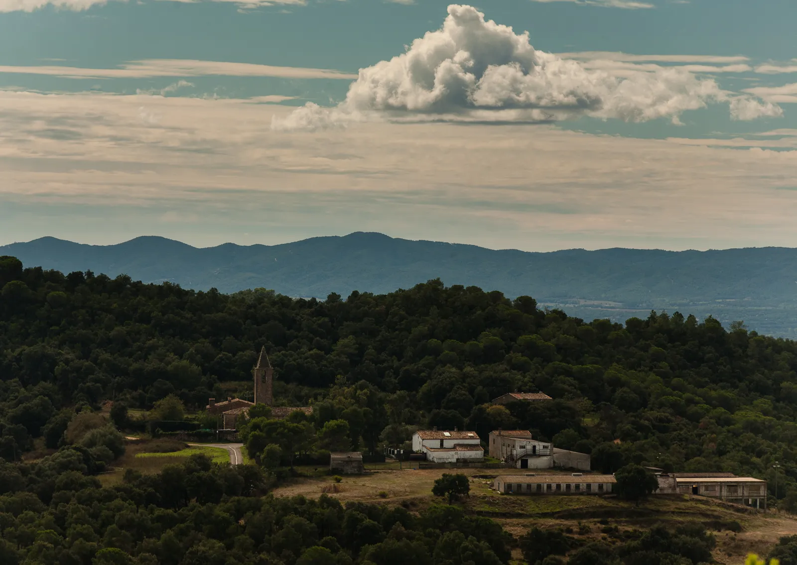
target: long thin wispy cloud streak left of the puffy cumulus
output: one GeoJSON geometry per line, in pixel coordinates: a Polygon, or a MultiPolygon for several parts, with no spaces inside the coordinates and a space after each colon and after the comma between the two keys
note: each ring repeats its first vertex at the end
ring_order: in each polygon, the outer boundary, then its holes
{"type": "Polygon", "coordinates": [[[225,61],[195,61],[189,59],[147,59],[131,61],[117,69],[88,69],[60,65],[10,66],[0,65],[0,73],[49,75],[65,78],[147,78],[147,77],[281,77],[295,79],[352,80],[357,75],[334,69],[304,69],[234,63],[225,61]]]}

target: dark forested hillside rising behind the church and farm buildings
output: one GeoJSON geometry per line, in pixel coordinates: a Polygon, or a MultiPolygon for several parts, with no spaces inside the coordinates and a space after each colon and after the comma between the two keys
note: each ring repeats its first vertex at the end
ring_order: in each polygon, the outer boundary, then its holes
{"type": "Polygon", "coordinates": [[[76,410],[104,399],[149,408],[175,393],[202,407],[226,383],[249,380],[265,346],[282,383],[277,402],[313,402],[316,429],[344,419],[352,447],[378,450],[418,426],[482,437],[528,427],[591,451],[607,472],[634,461],[773,479],[780,461],[777,494],[792,505],[797,496],[797,345],[741,324],[726,331],[688,312],[587,324],[528,296],[439,281],[324,301],[224,295],[23,270],[10,257],[0,287],[9,461],[42,434],[57,444],[76,410]],[[538,389],[554,400],[489,406],[538,389]]]}

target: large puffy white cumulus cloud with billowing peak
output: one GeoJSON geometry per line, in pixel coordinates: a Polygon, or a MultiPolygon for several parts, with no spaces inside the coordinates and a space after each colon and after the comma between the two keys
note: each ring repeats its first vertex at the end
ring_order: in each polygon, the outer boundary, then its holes
{"type": "Polygon", "coordinates": [[[783,113],[687,69],[644,70],[649,72],[623,69],[618,77],[587,69],[534,49],[528,32],[515,33],[485,20],[473,6],[453,4],[441,29],[390,61],[360,69],[336,108],[307,104],[273,128],[313,130],[371,119],[548,122],[579,116],[677,123],[682,112],[719,102],[732,102],[736,120],[783,113]]]}

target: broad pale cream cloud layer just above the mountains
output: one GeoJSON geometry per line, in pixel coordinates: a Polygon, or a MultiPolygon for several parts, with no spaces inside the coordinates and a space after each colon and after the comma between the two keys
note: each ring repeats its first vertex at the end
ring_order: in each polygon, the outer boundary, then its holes
{"type": "Polygon", "coordinates": [[[537,250],[797,245],[793,129],[659,140],[374,122],[286,136],[264,124],[290,108],[261,102],[0,91],[0,241],[375,230],[537,250]]]}

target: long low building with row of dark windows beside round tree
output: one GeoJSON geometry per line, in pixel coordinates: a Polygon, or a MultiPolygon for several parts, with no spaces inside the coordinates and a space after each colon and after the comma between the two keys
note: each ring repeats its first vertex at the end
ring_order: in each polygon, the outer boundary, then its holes
{"type": "Polygon", "coordinates": [[[501,475],[493,488],[502,494],[607,494],[616,484],[612,475],[501,475]]]}

